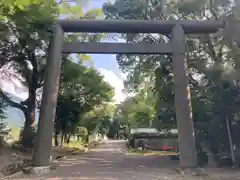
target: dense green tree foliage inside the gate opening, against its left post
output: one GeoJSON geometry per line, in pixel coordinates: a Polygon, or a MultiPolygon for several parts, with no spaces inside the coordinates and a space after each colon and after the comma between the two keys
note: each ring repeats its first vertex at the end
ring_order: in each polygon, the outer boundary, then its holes
{"type": "Polygon", "coordinates": [[[74,134],[74,130],[80,125],[87,128],[90,134],[96,125],[83,119],[92,117],[90,114],[95,107],[101,106],[103,102],[110,102],[113,95],[113,88],[104,82],[97,70],[87,68],[82,62],[75,63],[66,59],[62,66],[56,108],[56,131],[74,134]]]}

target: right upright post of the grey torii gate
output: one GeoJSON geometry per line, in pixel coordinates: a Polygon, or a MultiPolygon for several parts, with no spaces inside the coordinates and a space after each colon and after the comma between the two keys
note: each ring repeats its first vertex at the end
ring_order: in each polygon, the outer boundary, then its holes
{"type": "Polygon", "coordinates": [[[190,89],[187,83],[185,62],[184,31],[176,25],[172,31],[172,63],[174,74],[175,109],[178,127],[180,166],[194,168],[197,166],[195,135],[192,121],[190,89]]]}

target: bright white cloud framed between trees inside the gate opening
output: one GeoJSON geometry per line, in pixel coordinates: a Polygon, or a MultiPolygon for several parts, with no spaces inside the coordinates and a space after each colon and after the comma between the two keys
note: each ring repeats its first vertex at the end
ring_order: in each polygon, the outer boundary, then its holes
{"type": "Polygon", "coordinates": [[[99,72],[104,76],[104,80],[108,82],[111,86],[115,88],[114,100],[116,103],[124,101],[126,98],[125,94],[122,92],[124,89],[123,79],[120,79],[112,71],[100,68],[99,72]]]}

